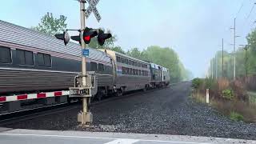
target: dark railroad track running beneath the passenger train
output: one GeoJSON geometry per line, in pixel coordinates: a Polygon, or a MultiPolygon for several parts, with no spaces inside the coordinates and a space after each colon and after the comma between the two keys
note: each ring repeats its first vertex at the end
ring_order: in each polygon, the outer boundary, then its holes
{"type": "MultiPolygon", "coordinates": [[[[169,87],[169,86],[167,86],[169,87]]],[[[118,99],[125,99],[125,98],[130,98],[132,96],[136,96],[138,94],[147,94],[154,92],[155,90],[162,90],[167,87],[163,88],[158,88],[158,89],[151,89],[151,90],[146,90],[146,91],[136,91],[136,92],[130,92],[128,94],[124,94],[119,97],[110,97],[110,98],[105,98],[102,99],[102,101],[98,102],[91,102],[90,106],[95,106],[95,105],[100,105],[102,103],[106,102],[112,102],[116,101],[118,99]]],[[[28,119],[33,119],[33,118],[38,118],[42,117],[48,114],[58,114],[60,112],[66,111],[66,110],[72,110],[72,109],[78,109],[81,106],[81,102],[75,101],[75,102],[70,102],[70,103],[61,103],[61,104],[56,104],[56,105],[51,105],[51,106],[42,106],[39,108],[33,108],[29,110],[19,110],[19,111],[14,111],[6,114],[0,114],[0,126],[6,126],[8,124],[14,123],[14,122],[22,122],[26,121],[28,119]]]]}

